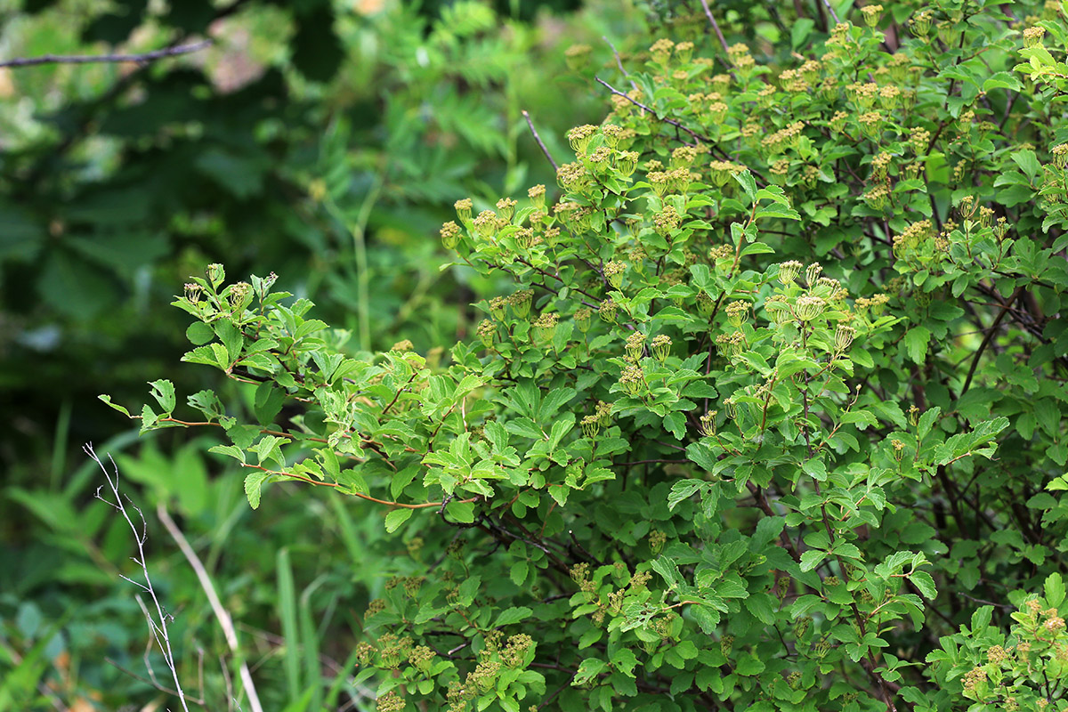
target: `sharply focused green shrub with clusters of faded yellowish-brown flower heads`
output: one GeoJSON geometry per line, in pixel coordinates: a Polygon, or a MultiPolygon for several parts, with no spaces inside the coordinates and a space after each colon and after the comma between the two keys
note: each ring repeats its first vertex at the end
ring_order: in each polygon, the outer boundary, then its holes
{"type": "Polygon", "coordinates": [[[514,286],[447,350],[218,265],[175,302],[248,408],[157,381],[143,428],[406,552],[379,710],[1068,708],[1066,9],[835,19],[789,65],[657,39],[559,190],[459,200],[457,269],[514,286]]]}

